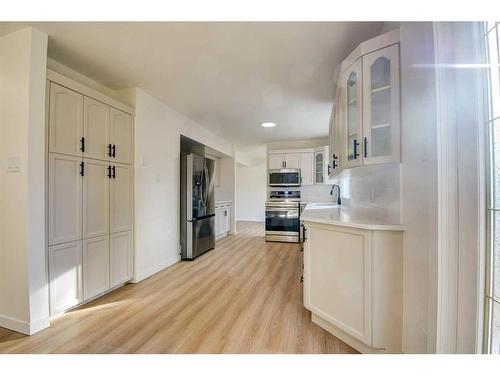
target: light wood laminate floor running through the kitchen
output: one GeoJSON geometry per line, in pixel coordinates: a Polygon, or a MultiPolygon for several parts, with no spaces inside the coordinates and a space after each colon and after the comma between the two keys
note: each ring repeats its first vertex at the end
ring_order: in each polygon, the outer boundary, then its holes
{"type": "Polygon", "coordinates": [[[55,319],[33,336],[0,328],[0,353],[355,353],[311,322],[302,252],[262,223],[55,319]]]}

